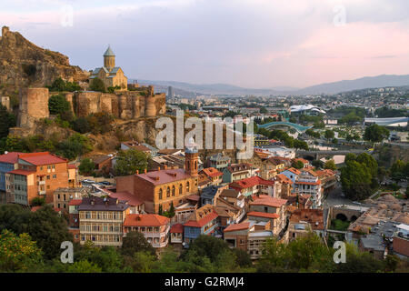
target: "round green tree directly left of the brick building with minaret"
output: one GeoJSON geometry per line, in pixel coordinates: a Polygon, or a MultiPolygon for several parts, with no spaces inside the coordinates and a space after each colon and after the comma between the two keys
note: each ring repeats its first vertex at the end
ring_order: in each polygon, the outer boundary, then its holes
{"type": "Polygon", "coordinates": [[[143,172],[147,167],[148,156],[135,149],[119,151],[116,156],[115,173],[117,176],[133,175],[138,170],[143,172]]]}

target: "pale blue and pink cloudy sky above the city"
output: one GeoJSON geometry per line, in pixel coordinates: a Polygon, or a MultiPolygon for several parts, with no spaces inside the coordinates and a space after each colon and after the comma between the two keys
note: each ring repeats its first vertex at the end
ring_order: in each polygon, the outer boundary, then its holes
{"type": "Polygon", "coordinates": [[[0,25],[71,65],[251,88],[409,74],[407,0],[0,0],[0,25]]]}

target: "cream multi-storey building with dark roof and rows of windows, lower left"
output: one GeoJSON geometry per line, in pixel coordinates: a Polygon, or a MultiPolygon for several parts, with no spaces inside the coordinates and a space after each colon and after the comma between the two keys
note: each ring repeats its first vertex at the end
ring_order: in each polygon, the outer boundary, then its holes
{"type": "Polygon", "coordinates": [[[129,214],[127,203],[112,197],[84,197],[78,207],[80,244],[122,246],[123,224],[129,214]]]}

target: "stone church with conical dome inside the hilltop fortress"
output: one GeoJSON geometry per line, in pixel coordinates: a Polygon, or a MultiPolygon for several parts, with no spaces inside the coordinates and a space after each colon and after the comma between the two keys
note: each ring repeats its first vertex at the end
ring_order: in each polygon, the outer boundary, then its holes
{"type": "Polygon", "coordinates": [[[128,78],[121,67],[115,66],[115,54],[109,45],[104,54],[104,66],[97,67],[92,71],[89,76],[90,84],[96,77],[104,82],[105,88],[118,85],[123,90],[127,89],[128,78]]]}

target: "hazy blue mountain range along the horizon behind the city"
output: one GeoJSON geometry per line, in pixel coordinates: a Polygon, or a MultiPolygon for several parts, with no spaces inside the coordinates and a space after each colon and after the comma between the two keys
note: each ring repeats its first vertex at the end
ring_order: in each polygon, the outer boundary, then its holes
{"type": "Polygon", "coordinates": [[[155,85],[156,90],[167,92],[173,86],[176,95],[318,95],[337,94],[341,92],[366,88],[409,85],[409,75],[365,76],[355,80],[344,80],[333,83],[312,85],[305,88],[276,86],[272,88],[244,88],[228,84],[190,84],[175,81],[137,80],[142,85],[155,85]]]}

